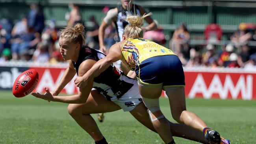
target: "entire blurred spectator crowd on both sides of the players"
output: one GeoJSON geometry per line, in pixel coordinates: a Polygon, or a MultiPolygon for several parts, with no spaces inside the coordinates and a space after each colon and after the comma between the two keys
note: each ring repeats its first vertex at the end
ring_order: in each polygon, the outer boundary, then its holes
{"type": "MultiPolygon", "coordinates": [[[[69,11],[65,15],[67,27],[77,22],[84,24],[79,7],[69,4],[69,11]]],[[[104,7],[106,14],[109,7],[104,7]]],[[[98,49],[98,28],[96,17],[88,17],[86,28],[86,45],[98,49]]],[[[145,39],[166,44],[168,37],[163,28],[157,24],[157,29],[147,31],[145,39]]],[[[35,61],[39,63],[59,63],[63,58],[59,52],[58,29],[53,18],[45,25],[44,15],[39,6],[31,4],[29,13],[20,21],[13,24],[6,18],[0,19],[0,62],[3,61],[35,61]]],[[[248,42],[256,41],[256,25],[241,23],[238,30],[222,41],[222,29],[218,24],[209,24],[204,31],[203,44],[191,45],[189,28],[181,23],[174,31],[169,48],[178,55],[184,66],[208,66],[230,68],[256,68],[256,46],[248,42]]],[[[105,30],[104,42],[110,48],[118,41],[117,32],[113,24],[105,30]]],[[[168,47],[168,46],[167,46],[168,47]]]]}

